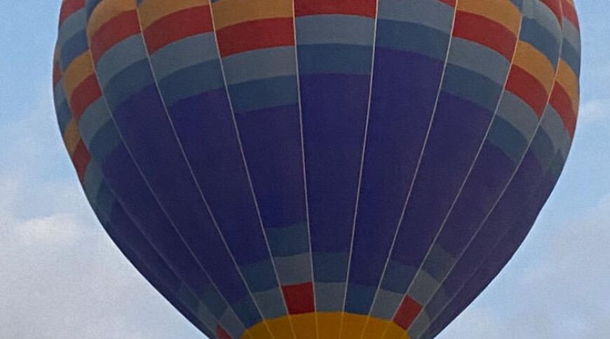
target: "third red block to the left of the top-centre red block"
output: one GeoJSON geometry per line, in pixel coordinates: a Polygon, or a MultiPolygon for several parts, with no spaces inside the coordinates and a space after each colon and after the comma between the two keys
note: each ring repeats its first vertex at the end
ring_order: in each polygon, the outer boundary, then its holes
{"type": "Polygon", "coordinates": [[[91,55],[97,62],[112,46],[140,32],[136,11],[123,12],[104,23],[91,38],[91,55]]]}

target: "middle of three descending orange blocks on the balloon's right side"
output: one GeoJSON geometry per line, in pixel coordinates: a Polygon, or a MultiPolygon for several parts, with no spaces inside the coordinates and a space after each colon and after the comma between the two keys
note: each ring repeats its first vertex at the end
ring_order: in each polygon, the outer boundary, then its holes
{"type": "Polygon", "coordinates": [[[527,42],[519,41],[513,63],[538,79],[546,93],[550,93],[555,81],[555,67],[538,49],[527,42]]]}

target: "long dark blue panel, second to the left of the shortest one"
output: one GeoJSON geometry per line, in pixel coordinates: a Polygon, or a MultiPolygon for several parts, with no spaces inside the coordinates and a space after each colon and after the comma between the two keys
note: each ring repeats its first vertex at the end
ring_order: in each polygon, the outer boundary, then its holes
{"type": "MultiPolygon", "coordinates": [[[[217,285],[229,303],[239,301],[247,291],[203,204],[156,87],[152,85],[132,95],[117,105],[113,115],[156,199],[210,277],[219,281],[217,285]],[[229,281],[235,281],[234,286],[228,286],[229,281]]],[[[254,324],[259,319],[250,308],[244,310],[248,312],[244,311],[243,317],[238,314],[244,322],[254,324]]]]}

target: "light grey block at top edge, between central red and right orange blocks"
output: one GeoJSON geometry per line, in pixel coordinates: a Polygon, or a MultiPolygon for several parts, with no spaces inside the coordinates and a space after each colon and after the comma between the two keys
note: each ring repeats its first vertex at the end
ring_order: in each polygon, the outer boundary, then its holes
{"type": "Polygon", "coordinates": [[[438,0],[379,0],[379,19],[413,22],[451,33],[454,8],[438,0]]]}

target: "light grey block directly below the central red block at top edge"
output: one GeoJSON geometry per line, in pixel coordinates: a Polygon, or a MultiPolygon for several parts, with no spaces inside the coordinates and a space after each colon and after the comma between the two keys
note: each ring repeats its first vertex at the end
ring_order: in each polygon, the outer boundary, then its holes
{"type": "Polygon", "coordinates": [[[299,45],[372,46],[374,20],[354,15],[309,15],[297,18],[299,45]]]}

